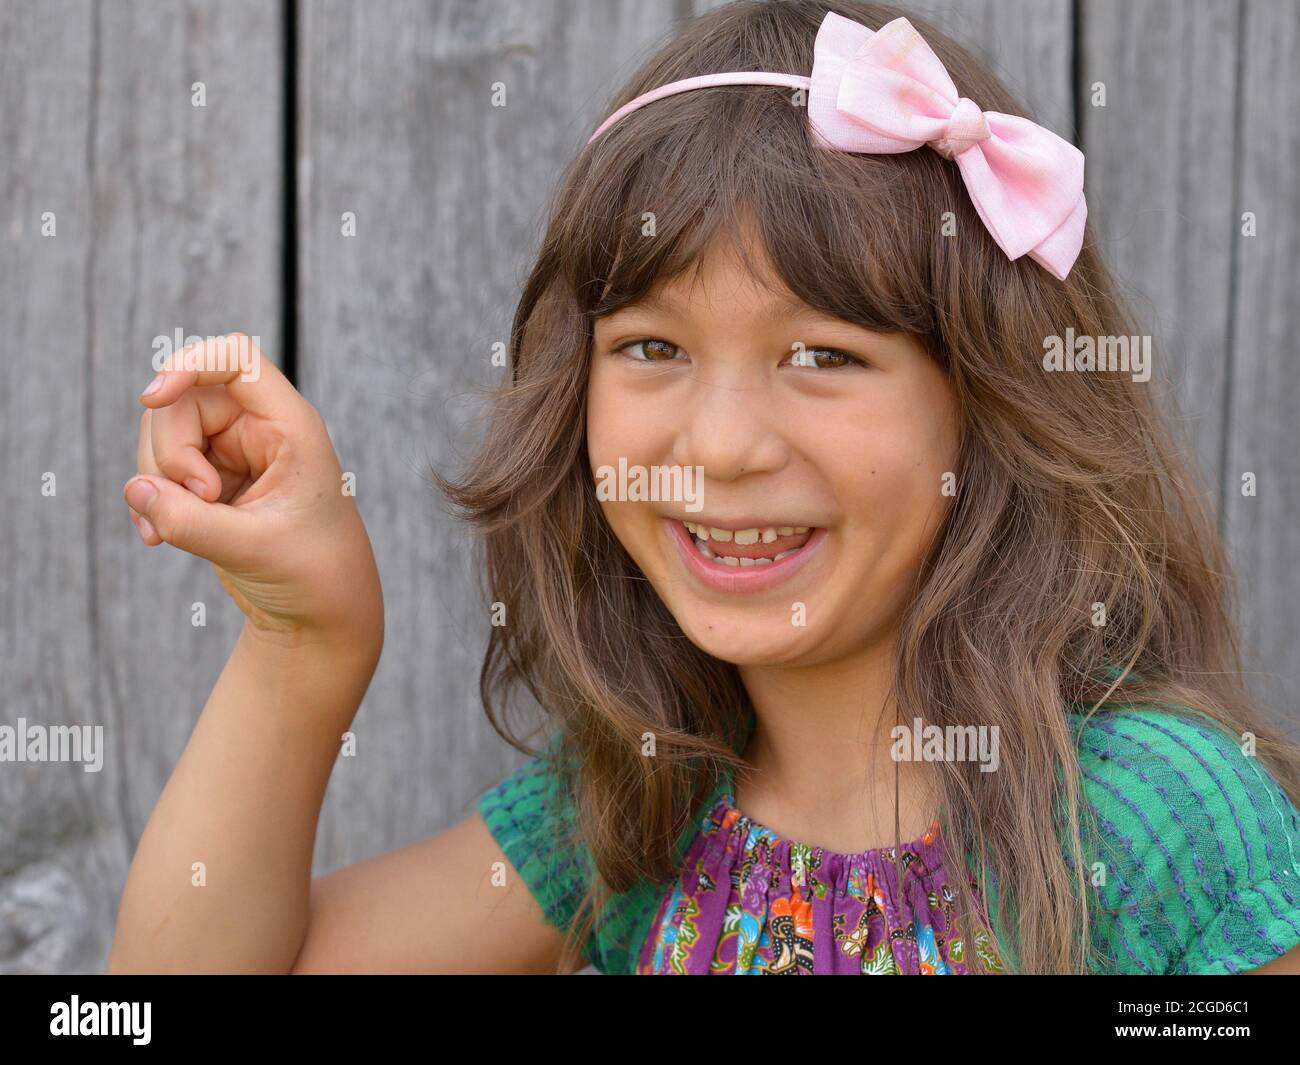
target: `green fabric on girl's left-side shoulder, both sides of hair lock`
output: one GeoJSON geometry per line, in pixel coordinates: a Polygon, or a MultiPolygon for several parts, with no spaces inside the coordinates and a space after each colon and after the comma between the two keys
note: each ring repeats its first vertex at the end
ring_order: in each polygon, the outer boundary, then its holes
{"type": "MultiPolygon", "coordinates": [[[[477,802],[502,852],[541,905],[546,919],[568,931],[594,879],[594,862],[578,831],[572,779],[564,769],[563,733],[477,802]]],[[[584,943],[602,973],[628,973],[663,887],[642,882],[608,897],[584,943]]]]}

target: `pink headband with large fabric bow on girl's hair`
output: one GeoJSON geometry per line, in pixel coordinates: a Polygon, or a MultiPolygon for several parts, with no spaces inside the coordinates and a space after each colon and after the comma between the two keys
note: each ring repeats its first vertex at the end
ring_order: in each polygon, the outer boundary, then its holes
{"type": "Polygon", "coordinates": [[[844,152],[892,155],[928,144],[957,163],[971,202],[1009,259],[1028,255],[1065,281],[1083,247],[1088,205],[1083,152],[1027,118],[980,111],[906,18],[879,33],[828,12],[812,74],[736,70],[662,85],[624,104],[592,134],[644,104],[715,85],[807,90],[812,139],[844,152]]]}

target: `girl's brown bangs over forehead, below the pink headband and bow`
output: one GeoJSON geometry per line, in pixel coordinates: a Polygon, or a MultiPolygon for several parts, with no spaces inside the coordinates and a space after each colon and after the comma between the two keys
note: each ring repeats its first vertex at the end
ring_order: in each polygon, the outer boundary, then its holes
{"type": "Polygon", "coordinates": [[[820,148],[793,95],[693,90],[634,111],[584,150],[556,205],[569,224],[554,248],[584,315],[641,299],[725,239],[755,280],[754,251],[818,311],[936,334],[939,226],[944,211],[963,209],[956,168],[933,152],[820,148]]]}

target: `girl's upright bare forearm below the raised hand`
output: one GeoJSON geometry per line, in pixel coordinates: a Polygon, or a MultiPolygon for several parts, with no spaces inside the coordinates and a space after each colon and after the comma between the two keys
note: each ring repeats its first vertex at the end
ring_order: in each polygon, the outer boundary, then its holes
{"type": "Polygon", "coordinates": [[[381,640],[244,627],[140,837],[108,971],[289,971],[325,785],[381,640]]]}

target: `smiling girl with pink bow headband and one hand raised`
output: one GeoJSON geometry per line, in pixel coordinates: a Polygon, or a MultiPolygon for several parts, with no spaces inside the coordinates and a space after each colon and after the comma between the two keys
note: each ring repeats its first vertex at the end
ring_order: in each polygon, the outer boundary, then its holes
{"type": "Polygon", "coordinates": [[[1300,763],[1214,525],[1144,375],[1044,354],[1140,332],[1078,150],[868,4],[720,8],[620,100],[439,479],[484,537],[489,717],[532,752],[526,689],[545,749],[312,883],[369,542],[274,367],[165,371],[126,499],[247,623],[109,967],[1300,971],[1300,763]]]}

